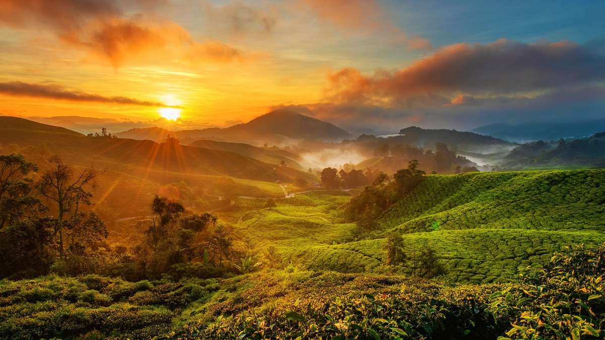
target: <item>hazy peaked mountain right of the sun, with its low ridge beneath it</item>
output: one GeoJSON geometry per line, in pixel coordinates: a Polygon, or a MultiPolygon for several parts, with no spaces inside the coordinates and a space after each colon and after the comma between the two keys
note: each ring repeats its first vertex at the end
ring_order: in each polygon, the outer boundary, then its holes
{"type": "Polygon", "coordinates": [[[117,136],[160,141],[166,139],[168,134],[185,144],[200,139],[263,145],[264,143],[283,144],[293,140],[341,140],[350,137],[347,131],[338,126],[290,110],[275,110],[250,120],[250,122],[230,126],[229,128],[182,131],[168,131],[162,128],[136,128],[119,132],[117,136]]]}

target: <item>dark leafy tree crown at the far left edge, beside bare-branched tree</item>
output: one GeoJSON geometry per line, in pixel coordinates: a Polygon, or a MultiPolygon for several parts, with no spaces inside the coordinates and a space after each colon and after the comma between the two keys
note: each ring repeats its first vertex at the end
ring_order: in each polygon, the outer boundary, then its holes
{"type": "Polygon", "coordinates": [[[29,177],[35,171],[38,166],[27,162],[23,155],[0,155],[0,229],[46,210],[34,194],[29,177]]]}

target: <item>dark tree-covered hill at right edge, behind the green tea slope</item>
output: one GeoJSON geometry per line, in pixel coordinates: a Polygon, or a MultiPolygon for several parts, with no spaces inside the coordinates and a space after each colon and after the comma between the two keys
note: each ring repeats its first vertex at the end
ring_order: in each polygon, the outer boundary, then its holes
{"type": "Polygon", "coordinates": [[[511,151],[502,169],[605,167],[605,132],[584,139],[526,143],[511,151]],[[518,151],[518,152],[517,152],[518,151]],[[518,157],[524,155],[525,157],[518,157]],[[517,157],[515,157],[517,156],[517,157]]]}

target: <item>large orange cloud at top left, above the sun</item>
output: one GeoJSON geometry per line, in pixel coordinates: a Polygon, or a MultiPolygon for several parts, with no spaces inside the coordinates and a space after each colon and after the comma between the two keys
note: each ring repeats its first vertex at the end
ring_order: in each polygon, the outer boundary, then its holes
{"type": "MultiPolygon", "coordinates": [[[[130,0],[122,5],[149,10],[165,2],[130,0]]],[[[50,29],[64,44],[88,51],[115,68],[162,60],[198,64],[244,58],[242,51],[221,42],[195,40],[174,22],[141,14],[127,18],[111,0],[3,0],[0,23],[50,29]]]]}

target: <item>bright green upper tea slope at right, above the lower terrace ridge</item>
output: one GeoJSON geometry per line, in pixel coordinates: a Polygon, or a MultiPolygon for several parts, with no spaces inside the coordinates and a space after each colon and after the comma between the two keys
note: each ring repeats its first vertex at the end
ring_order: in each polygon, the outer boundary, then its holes
{"type": "Polygon", "coordinates": [[[605,171],[491,172],[429,176],[385,212],[405,233],[517,228],[605,231],[605,171]]]}

